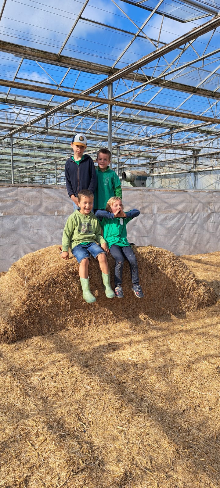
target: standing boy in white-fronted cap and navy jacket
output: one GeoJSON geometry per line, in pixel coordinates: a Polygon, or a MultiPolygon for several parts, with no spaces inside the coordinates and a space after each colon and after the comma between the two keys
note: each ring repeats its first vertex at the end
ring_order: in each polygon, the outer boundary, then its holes
{"type": "Polygon", "coordinates": [[[87,147],[84,134],[76,134],[71,142],[74,155],[65,164],[66,189],[73,201],[73,209],[79,209],[78,193],[80,190],[90,190],[93,194],[96,188],[96,170],[94,162],[87,154],[83,155],[87,147]]]}

